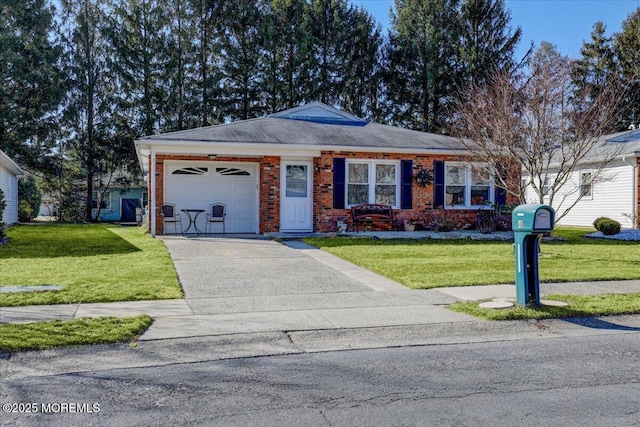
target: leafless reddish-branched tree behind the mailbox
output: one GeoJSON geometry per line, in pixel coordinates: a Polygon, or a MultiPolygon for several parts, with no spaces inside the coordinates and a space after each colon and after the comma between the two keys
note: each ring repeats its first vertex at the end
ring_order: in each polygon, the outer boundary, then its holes
{"type": "Polygon", "coordinates": [[[556,207],[557,220],[584,196],[574,172],[588,164],[590,183],[609,179],[606,167],[619,154],[601,136],[617,119],[621,85],[574,89],[569,58],[543,43],[528,73],[496,72],[468,87],[453,113],[452,133],[493,171],[496,186],[521,203],[532,188],[556,207]]]}

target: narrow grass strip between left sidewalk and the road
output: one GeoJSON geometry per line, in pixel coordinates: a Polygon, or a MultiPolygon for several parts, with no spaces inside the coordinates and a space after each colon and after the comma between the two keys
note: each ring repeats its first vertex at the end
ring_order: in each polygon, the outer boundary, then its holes
{"type": "Polygon", "coordinates": [[[0,325],[0,352],[133,341],[152,322],[141,315],[0,325]]]}

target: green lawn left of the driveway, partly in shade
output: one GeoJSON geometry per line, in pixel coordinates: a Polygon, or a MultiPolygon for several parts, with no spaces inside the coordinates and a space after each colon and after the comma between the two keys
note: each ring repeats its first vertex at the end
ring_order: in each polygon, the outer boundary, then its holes
{"type": "Polygon", "coordinates": [[[62,285],[60,291],[4,293],[0,306],[181,298],[161,240],[139,227],[20,225],[0,247],[0,286],[62,285]]]}

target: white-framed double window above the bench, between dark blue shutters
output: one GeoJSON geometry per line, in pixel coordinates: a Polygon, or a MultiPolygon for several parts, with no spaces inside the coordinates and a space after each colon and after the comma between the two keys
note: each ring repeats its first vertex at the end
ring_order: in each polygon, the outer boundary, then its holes
{"type": "Polygon", "coordinates": [[[400,163],[389,160],[347,160],[347,205],[381,203],[398,206],[400,163]]]}

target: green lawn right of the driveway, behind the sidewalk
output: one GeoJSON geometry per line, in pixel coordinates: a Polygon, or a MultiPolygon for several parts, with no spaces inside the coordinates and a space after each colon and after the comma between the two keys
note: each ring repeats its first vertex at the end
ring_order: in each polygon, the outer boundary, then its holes
{"type": "MultiPolygon", "coordinates": [[[[559,228],[544,241],[545,282],[640,279],[640,243],[589,239],[593,230],[559,228]]],[[[513,283],[512,242],[480,240],[308,238],[305,242],[413,289],[513,283]]]]}

